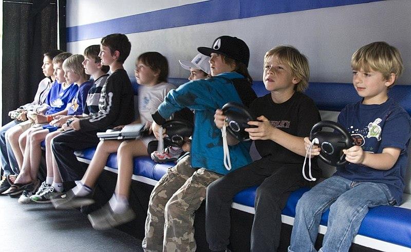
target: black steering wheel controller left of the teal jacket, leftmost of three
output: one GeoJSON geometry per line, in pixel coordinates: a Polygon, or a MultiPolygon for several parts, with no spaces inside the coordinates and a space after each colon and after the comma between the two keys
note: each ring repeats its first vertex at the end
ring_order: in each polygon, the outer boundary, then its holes
{"type": "Polygon", "coordinates": [[[181,147],[184,144],[184,138],[189,138],[193,134],[194,125],[185,120],[170,120],[162,127],[167,134],[164,138],[164,145],[181,147]]]}

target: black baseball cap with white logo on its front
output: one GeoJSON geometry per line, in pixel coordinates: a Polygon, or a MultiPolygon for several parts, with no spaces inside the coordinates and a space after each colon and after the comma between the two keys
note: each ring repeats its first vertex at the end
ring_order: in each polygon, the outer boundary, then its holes
{"type": "Polygon", "coordinates": [[[214,41],[211,48],[198,47],[197,50],[204,55],[211,56],[211,53],[218,53],[246,64],[250,60],[250,49],[247,44],[237,37],[220,36],[214,41]]]}

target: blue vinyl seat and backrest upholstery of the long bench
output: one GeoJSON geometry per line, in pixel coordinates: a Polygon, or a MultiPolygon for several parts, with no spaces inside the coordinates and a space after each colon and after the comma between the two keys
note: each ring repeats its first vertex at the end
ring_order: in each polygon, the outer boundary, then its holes
{"type": "MultiPolygon", "coordinates": [[[[132,79],[133,81],[133,79],[132,79]]],[[[134,81],[135,82],[135,81],[134,81]]],[[[185,79],[172,79],[171,83],[178,86],[185,83],[185,79]]],[[[254,82],[253,89],[258,96],[268,93],[263,82],[254,82]]],[[[137,93],[138,90],[136,89],[137,93]]],[[[317,107],[321,110],[340,111],[348,103],[358,101],[360,98],[351,84],[346,83],[310,83],[305,92],[310,96],[317,107]]],[[[411,86],[396,85],[389,91],[389,96],[394,98],[411,113],[411,86]]],[[[76,151],[78,157],[91,160],[95,148],[88,148],[76,151]]],[[[110,154],[107,166],[117,169],[117,154],[110,154]]],[[[143,176],[153,180],[160,180],[167,169],[174,163],[157,164],[150,157],[139,157],[134,159],[134,175],[143,176]]],[[[235,197],[234,202],[250,207],[254,207],[255,191],[257,186],[240,191],[235,197]]],[[[301,188],[291,193],[283,215],[294,217],[295,206],[304,192],[309,188],[301,188]]],[[[329,210],[324,212],[321,224],[327,225],[329,210]]],[[[364,218],[358,234],[375,238],[378,240],[394,243],[402,246],[411,247],[411,210],[394,206],[378,206],[371,208],[364,218]]]]}

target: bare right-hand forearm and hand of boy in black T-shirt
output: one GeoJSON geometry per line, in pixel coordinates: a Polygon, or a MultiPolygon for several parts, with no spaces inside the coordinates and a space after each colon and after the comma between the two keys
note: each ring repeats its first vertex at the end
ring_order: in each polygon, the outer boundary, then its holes
{"type": "Polygon", "coordinates": [[[257,128],[246,129],[251,140],[271,140],[298,155],[305,156],[304,138],[274,128],[264,115],[258,117],[257,120],[260,122],[248,122],[249,125],[257,126],[257,128]]]}

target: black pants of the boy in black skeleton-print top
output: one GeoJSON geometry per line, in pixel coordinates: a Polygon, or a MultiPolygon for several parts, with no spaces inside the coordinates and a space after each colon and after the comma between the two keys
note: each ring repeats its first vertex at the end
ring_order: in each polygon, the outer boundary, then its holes
{"type": "Polygon", "coordinates": [[[100,142],[97,132],[70,130],[53,139],[52,150],[63,182],[83,178],[87,164],[78,161],[74,151],[97,146],[100,142]]]}

